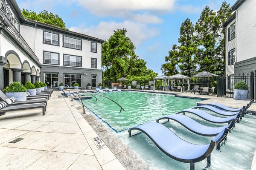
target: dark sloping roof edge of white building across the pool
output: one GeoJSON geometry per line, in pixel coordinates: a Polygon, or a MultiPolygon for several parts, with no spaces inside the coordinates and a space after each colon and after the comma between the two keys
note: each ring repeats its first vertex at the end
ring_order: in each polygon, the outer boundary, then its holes
{"type": "Polygon", "coordinates": [[[81,33],[75,32],[75,31],[66,30],[66,29],[63,29],[63,28],[59,28],[59,27],[56,27],[56,26],[52,26],[52,25],[47,24],[47,23],[41,23],[41,22],[38,22],[38,21],[35,21],[35,20],[31,20],[31,19],[27,19],[27,18],[23,21],[23,23],[27,23],[27,24],[30,24],[30,25],[35,25],[35,24],[37,24],[37,26],[41,26],[41,27],[43,27],[43,28],[52,29],[52,30],[55,30],[55,31],[58,31],[58,32],[62,32],[62,33],[66,33],[66,34],[76,35],[76,36],[78,36],[78,37],[82,37],[82,38],[87,38],[87,39],[99,41],[99,42],[101,42],[101,43],[104,42],[104,40],[99,39],[99,38],[96,38],[96,37],[92,37],[92,36],[90,36],[90,35],[81,34],[81,33]]]}

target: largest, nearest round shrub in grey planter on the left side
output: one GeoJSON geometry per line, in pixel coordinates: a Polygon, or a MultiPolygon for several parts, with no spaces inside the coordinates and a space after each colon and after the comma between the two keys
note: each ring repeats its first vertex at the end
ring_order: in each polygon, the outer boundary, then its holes
{"type": "Polygon", "coordinates": [[[12,82],[9,86],[3,89],[6,96],[15,97],[17,101],[26,101],[27,89],[20,82],[12,82]]]}

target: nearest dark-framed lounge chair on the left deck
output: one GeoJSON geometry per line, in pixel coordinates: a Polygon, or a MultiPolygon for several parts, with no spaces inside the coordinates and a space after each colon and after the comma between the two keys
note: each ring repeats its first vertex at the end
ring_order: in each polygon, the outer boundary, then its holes
{"type": "Polygon", "coordinates": [[[46,111],[46,103],[35,103],[35,104],[29,104],[29,105],[8,105],[5,108],[0,109],[1,112],[9,112],[9,111],[20,111],[20,110],[27,110],[27,109],[36,109],[36,108],[42,108],[43,115],[46,111]]]}

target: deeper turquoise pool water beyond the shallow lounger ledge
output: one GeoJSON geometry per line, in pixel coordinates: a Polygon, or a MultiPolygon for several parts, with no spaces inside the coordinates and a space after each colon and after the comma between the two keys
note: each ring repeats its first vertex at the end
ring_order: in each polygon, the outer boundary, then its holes
{"type": "Polygon", "coordinates": [[[101,93],[119,103],[125,111],[114,102],[102,96],[83,100],[87,108],[107,122],[113,130],[120,132],[127,128],[153,121],[161,116],[192,108],[201,100],[175,97],[174,95],[153,94],[135,91],[101,93]]]}

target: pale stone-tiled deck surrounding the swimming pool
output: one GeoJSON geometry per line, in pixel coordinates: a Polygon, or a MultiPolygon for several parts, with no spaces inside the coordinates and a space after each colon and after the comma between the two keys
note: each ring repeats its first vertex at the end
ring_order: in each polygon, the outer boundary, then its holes
{"type": "MultiPolygon", "coordinates": [[[[208,99],[238,108],[248,101],[193,93],[147,91],[181,97],[208,99]]],[[[256,111],[256,103],[250,107],[256,111]]],[[[41,109],[7,112],[0,116],[0,164],[4,170],[150,170],[151,168],[123,144],[92,114],[82,114],[81,105],[62,98],[54,91],[45,116],[41,109]],[[99,136],[107,147],[98,149],[93,138],[99,136]],[[17,138],[23,140],[9,143],[17,138]]],[[[252,170],[256,169],[256,151],[252,170]]]]}

